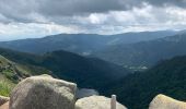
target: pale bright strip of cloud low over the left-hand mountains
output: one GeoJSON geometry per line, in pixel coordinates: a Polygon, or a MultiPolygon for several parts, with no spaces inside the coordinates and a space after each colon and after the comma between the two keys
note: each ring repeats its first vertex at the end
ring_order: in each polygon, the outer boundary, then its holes
{"type": "Polygon", "coordinates": [[[61,34],[61,33],[78,33],[81,32],[75,26],[62,26],[57,24],[37,24],[37,23],[0,23],[0,41],[22,39],[22,38],[37,38],[46,35],[61,34]]]}

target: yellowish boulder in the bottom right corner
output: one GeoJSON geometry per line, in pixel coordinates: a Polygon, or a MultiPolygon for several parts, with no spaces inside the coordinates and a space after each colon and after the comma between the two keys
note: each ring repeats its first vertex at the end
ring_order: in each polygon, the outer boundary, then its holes
{"type": "Polygon", "coordinates": [[[186,102],[160,94],[151,101],[149,109],[186,109],[186,102]]]}

